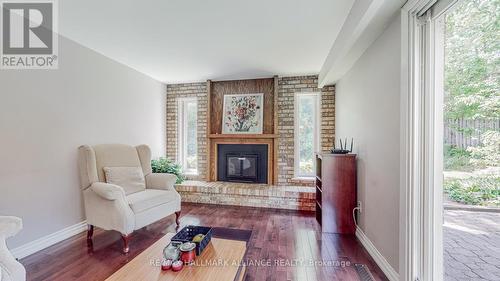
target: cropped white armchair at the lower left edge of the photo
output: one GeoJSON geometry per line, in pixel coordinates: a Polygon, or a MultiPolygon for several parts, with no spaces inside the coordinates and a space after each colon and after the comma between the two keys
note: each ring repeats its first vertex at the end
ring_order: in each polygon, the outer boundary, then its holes
{"type": "Polygon", "coordinates": [[[7,249],[5,239],[16,235],[23,228],[20,218],[0,216],[0,280],[24,281],[26,270],[7,249]]]}

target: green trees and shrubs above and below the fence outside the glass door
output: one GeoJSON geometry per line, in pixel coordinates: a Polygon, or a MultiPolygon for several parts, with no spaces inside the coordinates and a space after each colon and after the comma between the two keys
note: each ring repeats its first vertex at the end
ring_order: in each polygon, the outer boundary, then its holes
{"type": "MultiPolygon", "coordinates": [[[[445,120],[500,118],[500,0],[466,0],[446,16],[445,120]]],[[[453,128],[472,133],[467,128],[453,128]]],[[[444,147],[444,191],[457,202],[500,206],[500,132],[477,147],[444,147]],[[468,177],[467,177],[468,176],[468,177]]]]}

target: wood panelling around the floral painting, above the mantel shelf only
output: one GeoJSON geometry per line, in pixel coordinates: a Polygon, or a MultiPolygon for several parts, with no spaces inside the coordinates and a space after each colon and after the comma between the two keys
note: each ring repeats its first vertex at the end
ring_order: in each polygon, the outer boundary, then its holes
{"type": "Polygon", "coordinates": [[[264,94],[264,124],[263,134],[274,134],[275,91],[274,78],[211,81],[210,87],[210,134],[222,133],[222,109],[224,95],[234,94],[264,94]]]}

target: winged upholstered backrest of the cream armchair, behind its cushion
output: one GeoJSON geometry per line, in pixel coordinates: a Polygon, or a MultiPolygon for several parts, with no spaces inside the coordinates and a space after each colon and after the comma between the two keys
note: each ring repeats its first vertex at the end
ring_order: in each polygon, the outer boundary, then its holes
{"type": "Polygon", "coordinates": [[[80,186],[87,189],[94,182],[106,182],[104,167],[142,167],[144,176],[151,170],[151,149],[125,144],[82,145],[78,148],[80,186]]]}

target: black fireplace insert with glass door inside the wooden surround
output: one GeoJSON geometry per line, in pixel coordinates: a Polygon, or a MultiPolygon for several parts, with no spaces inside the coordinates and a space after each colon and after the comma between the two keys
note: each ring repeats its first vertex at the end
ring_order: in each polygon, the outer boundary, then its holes
{"type": "Polygon", "coordinates": [[[217,180],[267,183],[267,144],[218,144],[217,180]]]}

